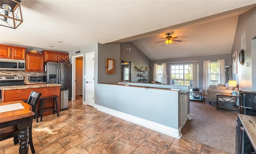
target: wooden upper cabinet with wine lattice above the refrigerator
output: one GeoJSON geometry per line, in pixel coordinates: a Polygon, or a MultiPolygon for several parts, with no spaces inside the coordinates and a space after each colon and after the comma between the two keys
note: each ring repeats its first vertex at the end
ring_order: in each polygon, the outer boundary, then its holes
{"type": "Polygon", "coordinates": [[[41,51],[44,54],[44,61],[47,62],[59,62],[60,59],[65,58],[67,61],[69,59],[68,53],[56,52],[56,51],[48,51],[43,50],[41,51]]]}

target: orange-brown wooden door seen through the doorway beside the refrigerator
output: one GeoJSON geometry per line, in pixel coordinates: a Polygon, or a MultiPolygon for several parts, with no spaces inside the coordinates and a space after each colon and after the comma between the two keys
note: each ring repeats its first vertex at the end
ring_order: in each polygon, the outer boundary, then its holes
{"type": "Polygon", "coordinates": [[[76,58],[76,96],[79,95],[83,95],[83,60],[76,58]]]}

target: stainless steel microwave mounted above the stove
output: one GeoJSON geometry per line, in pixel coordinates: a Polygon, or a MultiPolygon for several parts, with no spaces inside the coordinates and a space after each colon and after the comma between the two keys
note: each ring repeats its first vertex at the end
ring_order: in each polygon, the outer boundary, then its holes
{"type": "Polygon", "coordinates": [[[0,59],[0,70],[25,70],[25,60],[18,59],[0,59]]]}

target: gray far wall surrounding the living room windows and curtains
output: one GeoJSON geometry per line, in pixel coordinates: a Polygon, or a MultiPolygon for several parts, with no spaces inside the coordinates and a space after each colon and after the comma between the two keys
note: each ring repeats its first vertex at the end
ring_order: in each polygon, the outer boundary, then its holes
{"type": "MultiPolygon", "coordinates": [[[[205,51],[202,51],[205,52],[205,51]]],[[[231,51],[230,51],[231,52],[231,51]]],[[[163,60],[153,60],[151,61],[150,75],[153,76],[153,67],[154,63],[168,63],[168,62],[181,62],[181,61],[198,61],[198,86],[200,89],[203,87],[203,65],[205,60],[210,60],[212,62],[217,61],[218,59],[226,59],[226,65],[232,65],[231,55],[223,54],[223,55],[209,55],[209,56],[201,56],[201,57],[187,57],[187,58],[177,58],[177,59],[163,59],[163,60]]],[[[170,75],[170,64],[167,66],[167,75],[170,75]]],[[[223,68],[224,71],[224,68],[223,68]]],[[[231,80],[232,68],[228,69],[229,79],[231,80]]],[[[152,78],[151,78],[152,79],[152,78]]],[[[170,84],[170,76],[168,77],[168,84],[170,84]]]]}

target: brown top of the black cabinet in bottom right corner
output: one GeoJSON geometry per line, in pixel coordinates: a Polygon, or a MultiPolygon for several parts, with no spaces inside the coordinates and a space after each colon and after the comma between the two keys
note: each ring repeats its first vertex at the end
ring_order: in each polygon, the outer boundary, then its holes
{"type": "Polygon", "coordinates": [[[244,126],[253,148],[256,150],[256,116],[238,114],[238,117],[244,126]]]}

